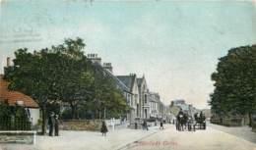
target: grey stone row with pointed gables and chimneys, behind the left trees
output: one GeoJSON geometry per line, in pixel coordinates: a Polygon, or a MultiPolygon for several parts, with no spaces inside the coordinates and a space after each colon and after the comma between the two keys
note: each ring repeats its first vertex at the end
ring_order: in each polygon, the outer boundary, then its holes
{"type": "Polygon", "coordinates": [[[103,63],[96,54],[88,54],[88,58],[93,65],[102,70],[116,81],[116,85],[127,100],[131,110],[127,114],[127,120],[133,123],[136,118],[140,119],[163,119],[167,118],[168,107],[160,102],[160,95],[156,92],[150,92],[145,75],[137,77],[136,74],[113,75],[111,63],[103,63]]]}

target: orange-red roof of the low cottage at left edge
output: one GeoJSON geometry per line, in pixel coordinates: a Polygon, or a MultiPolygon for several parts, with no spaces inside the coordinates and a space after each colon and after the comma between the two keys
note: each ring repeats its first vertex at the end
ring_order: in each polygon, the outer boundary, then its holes
{"type": "Polygon", "coordinates": [[[0,75],[0,102],[7,102],[8,105],[17,105],[19,101],[23,101],[23,105],[28,108],[38,108],[38,104],[28,95],[18,91],[10,91],[8,82],[0,75]]]}

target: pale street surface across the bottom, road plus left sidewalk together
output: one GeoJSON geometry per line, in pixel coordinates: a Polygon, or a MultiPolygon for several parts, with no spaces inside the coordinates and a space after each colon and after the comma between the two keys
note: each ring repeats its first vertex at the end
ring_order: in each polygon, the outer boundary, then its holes
{"type": "MultiPolygon", "coordinates": [[[[256,144],[208,125],[206,130],[177,131],[174,125],[150,130],[121,128],[106,136],[93,131],[61,131],[37,136],[35,145],[2,144],[2,150],[256,150],[256,144]]],[[[1,150],[1,148],[0,148],[1,150]]]]}

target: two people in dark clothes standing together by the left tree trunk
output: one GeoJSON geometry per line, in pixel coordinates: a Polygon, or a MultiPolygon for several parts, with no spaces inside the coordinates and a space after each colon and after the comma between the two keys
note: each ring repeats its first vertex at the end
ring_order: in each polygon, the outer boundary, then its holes
{"type": "Polygon", "coordinates": [[[59,116],[56,115],[54,112],[51,112],[49,119],[49,136],[53,136],[53,132],[55,136],[59,135],[59,116]]]}

